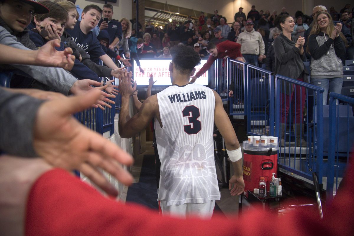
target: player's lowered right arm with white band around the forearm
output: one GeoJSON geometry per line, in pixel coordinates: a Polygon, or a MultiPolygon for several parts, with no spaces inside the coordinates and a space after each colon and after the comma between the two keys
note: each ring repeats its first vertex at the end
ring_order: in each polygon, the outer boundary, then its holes
{"type": "Polygon", "coordinates": [[[227,116],[221,98],[215,91],[215,111],[214,122],[218,128],[221,136],[224,138],[227,153],[231,159],[232,166],[234,167],[234,175],[230,179],[229,190],[231,195],[240,195],[245,189],[242,172],[242,158],[237,161],[232,161],[232,155],[242,155],[240,152],[240,143],[236,137],[234,127],[232,126],[229,117],[227,116]],[[234,184],[233,188],[232,185],[234,184]]]}

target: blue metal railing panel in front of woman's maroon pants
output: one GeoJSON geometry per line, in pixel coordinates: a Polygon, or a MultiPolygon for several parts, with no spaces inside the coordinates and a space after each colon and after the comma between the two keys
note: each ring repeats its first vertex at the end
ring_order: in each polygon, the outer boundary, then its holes
{"type": "Polygon", "coordinates": [[[275,82],[278,165],[310,180],[316,171],[322,184],[324,89],[281,75],[275,75],[275,82]]]}

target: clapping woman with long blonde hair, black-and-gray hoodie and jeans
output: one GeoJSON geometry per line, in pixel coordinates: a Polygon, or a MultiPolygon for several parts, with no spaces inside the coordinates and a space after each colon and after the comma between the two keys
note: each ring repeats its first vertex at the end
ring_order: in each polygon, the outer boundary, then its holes
{"type": "Polygon", "coordinates": [[[343,85],[343,63],[341,57],[346,53],[341,23],[333,24],[327,12],[316,16],[308,38],[307,51],[311,54],[311,84],[325,89],[323,104],[328,101],[330,92],[341,93],[343,85]]]}

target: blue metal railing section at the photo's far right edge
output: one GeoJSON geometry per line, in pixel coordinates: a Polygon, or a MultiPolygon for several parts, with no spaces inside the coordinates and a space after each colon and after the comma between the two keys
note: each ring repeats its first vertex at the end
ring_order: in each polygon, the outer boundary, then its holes
{"type": "MultiPolygon", "coordinates": [[[[329,153],[327,167],[326,200],[330,202],[338,189],[344,167],[349,162],[349,151],[353,144],[354,98],[337,93],[330,93],[329,105],[329,153]],[[342,111],[339,102],[347,103],[342,111]],[[342,147],[341,147],[342,146],[342,147]],[[344,167],[343,167],[344,166],[344,167]]],[[[347,181],[351,181],[348,179],[347,181]]]]}

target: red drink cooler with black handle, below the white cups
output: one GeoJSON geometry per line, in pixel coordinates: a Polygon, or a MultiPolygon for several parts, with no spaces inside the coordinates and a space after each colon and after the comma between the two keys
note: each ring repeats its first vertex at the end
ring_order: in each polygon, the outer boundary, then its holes
{"type": "MultiPolygon", "coordinates": [[[[272,173],[277,174],[278,168],[278,149],[270,148],[267,151],[245,150],[244,149],[244,181],[245,192],[247,190],[253,192],[258,189],[259,178],[265,179],[267,191],[269,191],[269,183],[272,180],[272,173]]],[[[247,196],[246,196],[247,197],[247,196]]]]}

